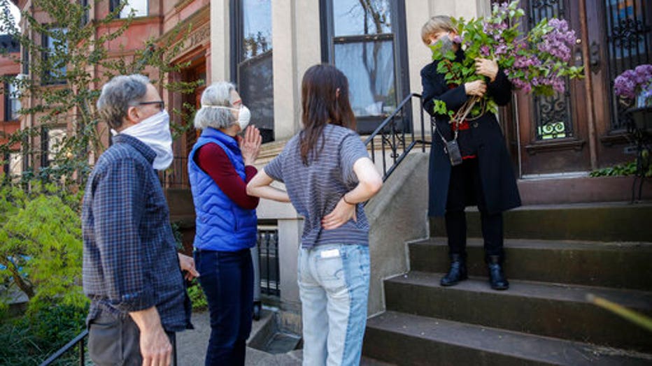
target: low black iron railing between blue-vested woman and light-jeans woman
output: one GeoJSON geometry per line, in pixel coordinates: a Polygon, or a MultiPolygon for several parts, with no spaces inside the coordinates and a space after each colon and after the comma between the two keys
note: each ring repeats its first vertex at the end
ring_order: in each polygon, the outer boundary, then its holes
{"type": "Polygon", "coordinates": [[[260,292],[265,295],[281,295],[278,268],[278,228],[258,227],[258,264],[260,265],[260,292]]]}

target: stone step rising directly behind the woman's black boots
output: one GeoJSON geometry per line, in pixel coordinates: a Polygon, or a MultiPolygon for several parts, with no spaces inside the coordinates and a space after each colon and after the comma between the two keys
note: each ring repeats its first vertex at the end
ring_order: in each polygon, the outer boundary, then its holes
{"type": "MultiPolygon", "coordinates": [[[[652,243],[505,240],[508,279],[652,291],[652,243]]],[[[446,237],[409,243],[410,268],[448,271],[446,237]]],[[[483,240],[467,240],[467,268],[486,276],[483,240]]]]}

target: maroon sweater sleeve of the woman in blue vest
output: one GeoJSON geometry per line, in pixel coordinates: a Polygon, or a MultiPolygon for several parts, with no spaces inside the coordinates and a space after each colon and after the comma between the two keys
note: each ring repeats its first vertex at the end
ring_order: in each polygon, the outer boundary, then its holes
{"type": "Polygon", "coordinates": [[[227,153],[222,150],[220,145],[213,142],[199,147],[197,153],[194,154],[194,162],[213,178],[215,184],[218,184],[222,192],[236,205],[246,210],[254,210],[258,206],[260,198],[247,195],[247,183],[258,173],[255,167],[245,166],[246,179],[242,180],[227,153]]]}

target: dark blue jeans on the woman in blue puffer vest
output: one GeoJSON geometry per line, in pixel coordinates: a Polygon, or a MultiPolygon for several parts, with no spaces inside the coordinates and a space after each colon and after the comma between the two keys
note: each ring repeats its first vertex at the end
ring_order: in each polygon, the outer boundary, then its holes
{"type": "Polygon", "coordinates": [[[206,366],[244,365],[253,302],[250,251],[195,251],[194,263],[211,312],[206,366]]]}

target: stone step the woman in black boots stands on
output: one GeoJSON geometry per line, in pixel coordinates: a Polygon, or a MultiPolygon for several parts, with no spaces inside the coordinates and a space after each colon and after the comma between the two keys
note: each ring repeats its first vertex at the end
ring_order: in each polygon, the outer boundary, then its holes
{"type": "Polygon", "coordinates": [[[385,280],[387,309],[652,352],[649,332],[586,300],[592,293],[650,316],[651,292],[514,280],[509,290],[494,291],[483,278],[442,287],[442,275],[409,272],[385,280]]]}

